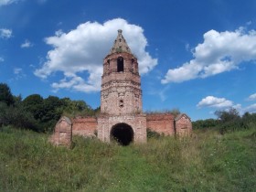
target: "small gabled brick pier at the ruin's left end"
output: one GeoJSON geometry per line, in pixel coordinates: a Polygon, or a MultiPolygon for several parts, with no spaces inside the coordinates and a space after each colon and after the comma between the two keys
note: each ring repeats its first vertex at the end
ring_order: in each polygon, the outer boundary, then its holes
{"type": "Polygon", "coordinates": [[[61,117],[55,125],[54,133],[49,139],[55,145],[71,146],[72,143],[72,123],[68,117],[61,117]]]}

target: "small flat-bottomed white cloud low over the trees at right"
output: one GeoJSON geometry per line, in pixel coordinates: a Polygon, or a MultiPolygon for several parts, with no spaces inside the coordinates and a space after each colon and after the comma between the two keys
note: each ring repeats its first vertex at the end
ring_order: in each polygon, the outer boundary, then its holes
{"type": "MultiPolygon", "coordinates": [[[[229,101],[225,98],[207,96],[197,103],[197,107],[229,108],[234,107],[234,104],[233,101],[229,101]]],[[[237,107],[239,106],[237,105],[237,107]]]]}

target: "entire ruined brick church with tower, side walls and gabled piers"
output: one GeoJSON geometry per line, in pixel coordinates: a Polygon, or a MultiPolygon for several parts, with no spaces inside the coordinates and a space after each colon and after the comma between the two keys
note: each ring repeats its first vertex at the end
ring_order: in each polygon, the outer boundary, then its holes
{"type": "Polygon", "coordinates": [[[97,117],[61,117],[51,142],[69,145],[72,135],[97,136],[102,142],[145,143],[146,129],[165,135],[190,134],[192,124],[185,113],[145,114],[142,105],[139,63],[118,30],[110,53],[103,61],[101,113],[97,117]]]}

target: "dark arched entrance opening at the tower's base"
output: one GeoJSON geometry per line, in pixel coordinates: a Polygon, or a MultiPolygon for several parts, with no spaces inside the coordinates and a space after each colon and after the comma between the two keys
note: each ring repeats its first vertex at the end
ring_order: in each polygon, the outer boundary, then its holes
{"type": "Polygon", "coordinates": [[[119,144],[131,144],[133,142],[133,128],[126,123],[118,123],[112,127],[111,137],[119,144]]]}

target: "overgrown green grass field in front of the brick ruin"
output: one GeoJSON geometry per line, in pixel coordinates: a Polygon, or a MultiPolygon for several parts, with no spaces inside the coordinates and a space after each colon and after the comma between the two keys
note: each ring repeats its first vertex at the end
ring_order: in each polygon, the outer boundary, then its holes
{"type": "Polygon", "coordinates": [[[256,129],[147,144],[74,138],[69,150],[48,134],[0,128],[0,191],[255,191],[256,129]]]}

